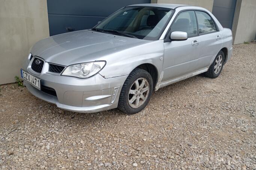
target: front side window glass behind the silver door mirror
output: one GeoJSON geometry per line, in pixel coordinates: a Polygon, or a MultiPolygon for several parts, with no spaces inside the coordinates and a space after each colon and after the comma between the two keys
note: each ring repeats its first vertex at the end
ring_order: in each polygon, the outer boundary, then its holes
{"type": "Polygon", "coordinates": [[[188,37],[197,35],[196,15],[194,11],[185,11],[179,13],[174,23],[172,24],[171,31],[183,31],[188,33],[188,37]]]}

